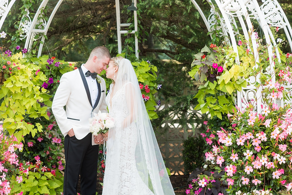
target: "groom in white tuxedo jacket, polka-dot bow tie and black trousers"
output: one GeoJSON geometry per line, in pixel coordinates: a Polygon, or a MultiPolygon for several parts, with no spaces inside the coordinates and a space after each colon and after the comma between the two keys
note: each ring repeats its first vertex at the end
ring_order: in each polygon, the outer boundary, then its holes
{"type": "Polygon", "coordinates": [[[52,111],[65,137],[64,195],[77,194],[79,175],[81,194],[96,193],[97,144],[103,144],[103,136],[89,133],[88,119],[98,110],[107,112],[105,80],[96,76],[107,68],[110,58],[106,47],[94,48],[85,64],[62,75],[55,93],[52,111]]]}

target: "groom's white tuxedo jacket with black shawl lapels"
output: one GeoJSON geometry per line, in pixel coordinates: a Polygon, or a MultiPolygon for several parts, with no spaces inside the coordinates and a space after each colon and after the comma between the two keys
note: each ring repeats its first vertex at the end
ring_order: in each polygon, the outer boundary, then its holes
{"type": "Polygon", "coordinates": [[[105,80],[101,79],[101,83],[97,83],[97,86],[98,97],[96,102],[91,102],[88,85],[81,68],[62,75],[54,96],[52,111],[64,137],[73,128],[75,137],[81,140],[89,133],[88,119],[92,118],[94,113],[98,113],[98,110],[107,112],[105,80]]]}

